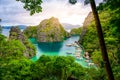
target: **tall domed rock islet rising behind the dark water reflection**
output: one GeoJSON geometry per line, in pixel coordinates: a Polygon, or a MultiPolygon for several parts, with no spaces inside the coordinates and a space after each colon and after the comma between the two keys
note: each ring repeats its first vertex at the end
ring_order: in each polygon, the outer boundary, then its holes
{"type": "Polygon", "coordinates": [[[59,42],[67,35],[58,19],[54,17],[43,20],[37,27],[38,42],[59,42]]]}

